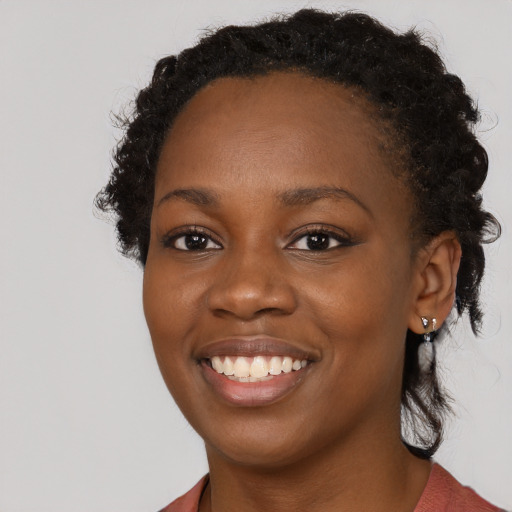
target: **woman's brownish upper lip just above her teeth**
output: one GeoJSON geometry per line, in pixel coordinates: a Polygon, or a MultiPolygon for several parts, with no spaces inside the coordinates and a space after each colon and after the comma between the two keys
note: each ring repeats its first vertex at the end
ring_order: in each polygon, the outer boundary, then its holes
{"type": "Polygon", "coordinates": [[[290,356],[294,359],[306,359],[308,361],[318,361],[320,359],[318,350],[307,349],[299,346],[298,343],[266,335],[231,336],[215,340],[201,347],[197,351],[196,358],[211,359],[214,356],[222,355],[245,357],[257,355],[290,356]]]}

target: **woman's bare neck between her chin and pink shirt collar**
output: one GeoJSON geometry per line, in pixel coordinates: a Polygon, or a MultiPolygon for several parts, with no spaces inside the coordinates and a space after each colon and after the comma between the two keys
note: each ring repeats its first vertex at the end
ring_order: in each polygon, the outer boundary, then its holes
{"type": "Polygon", "coordinates": [[[237,464],[209,446],[207,455],[210,485],[201,512],[412,512],[431,468],[429,461],[413,456],[399,436],[383,439],[382,431],[342,440],[279,467],[237,464]]]}

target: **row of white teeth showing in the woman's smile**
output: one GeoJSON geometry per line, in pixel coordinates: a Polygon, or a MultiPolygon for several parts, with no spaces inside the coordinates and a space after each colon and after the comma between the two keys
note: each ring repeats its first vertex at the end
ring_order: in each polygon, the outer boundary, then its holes
{"type": "Polygon", "coordinates": [[[260,382],[272,379],[281,373],[290,373],[305,368],[306,359],[292,359],[289,356],[214,356],[212,368],[238,382],[260,382]]]}

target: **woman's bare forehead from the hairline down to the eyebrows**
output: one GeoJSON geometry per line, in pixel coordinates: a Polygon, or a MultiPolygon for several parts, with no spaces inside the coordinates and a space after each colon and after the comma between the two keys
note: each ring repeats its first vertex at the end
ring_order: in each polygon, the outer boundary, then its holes
{"type": "Polygon", "coordinates": [[[400,185],[389,146],[375,107],[354,89],[292,72],[222,78],[177,116],[155,198],[172,187],[202,187],[214,174],[220,193],[223,184],[231,192],[238,183],[244,193],[277,194],[293,182],[341,185],[372,201],[379,190],[400,185]]]}

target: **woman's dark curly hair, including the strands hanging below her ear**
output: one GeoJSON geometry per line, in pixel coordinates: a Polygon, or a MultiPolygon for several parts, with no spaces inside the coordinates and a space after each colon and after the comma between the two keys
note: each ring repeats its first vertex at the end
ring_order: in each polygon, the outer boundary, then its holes
{"type": "MultiPolygon", "coordinates": [[[[376,123],[391,126],[393,146],[406,154],[401,156],[404,180],[415,198],[413,234],[426,243],[442,231],[456,233],[462,246],[456,309],[459,315],[468,312],[476,332],[482,244],[500,234],[498,222],[482,209],[479,193],[488,162],[473,132],[478,109],[460,78],[446,71],[420,34],[397,34],[365,14],[307,9],[254,26],[228,26],[161,59],[124,122],[110,182],[96,197],[100,210],[116,216],[121,251],[146,262],[157,161],[188,100],[220,77],[287,70],[357,90],[374,105],[376,123]]],[[[449,406],[435,357],[427,368],[419,364],[421,342],[421,336],[408,331],[402,425],[409,450],[430,458],[441,442],[449,406]]]]}

